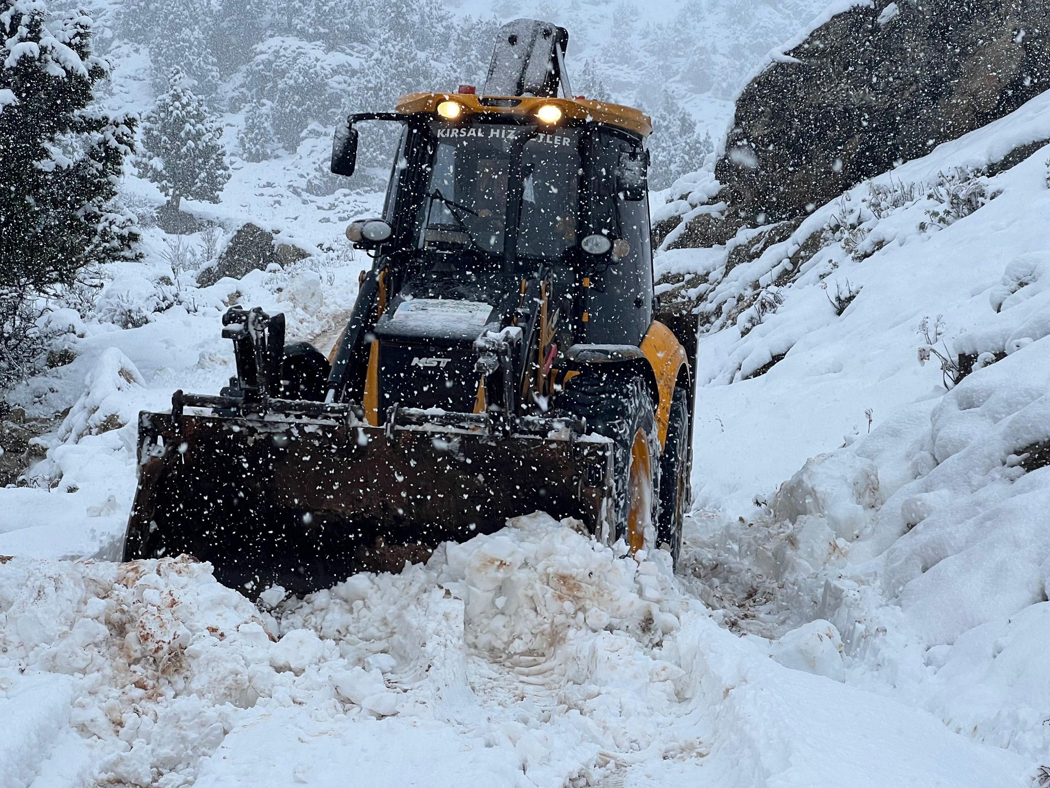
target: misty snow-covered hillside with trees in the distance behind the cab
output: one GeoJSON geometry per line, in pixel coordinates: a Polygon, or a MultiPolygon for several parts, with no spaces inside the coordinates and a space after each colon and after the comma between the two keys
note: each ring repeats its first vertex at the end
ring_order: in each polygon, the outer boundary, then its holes
{"type": "Polygon", "coordinates": [[[324,146],[316,142],[331,139],[336,117],[388,109],[400,92],[480,84],[497,25],[531,16],[568,27],[575,92],[640,106],[653,116],[655,171],[664,177],[665,170],[678,173],[701,163],[684,157],[702,157],[722,137],[749,74],[824,5],[823,0],[671,0],[655,7],[640,0],[461,0],[441,6],[446,18],[428,20],[406,16],[412,4],[394,0],[383,14],[383,1],[375,0],[360,6],[361,19],[354,24],[345,8],[300,0],[293,6],[303,9],[300,18],[282,24],[267,2],[166,0],[156,6],[160,12],[149,12],[150,4],[140,0],[93,0],[96,46],[116,66],[106,106],[145,115],[166,68],[203,63],[189,72],[212,109],[225,112],[234,165],[291,157],[300,180],[313,182],[310,191],[330,193],[339,184],[323,174],[324,146]],[[211,9],[211,25],[185,19],[201,16],[203,7],[211,9]],[[236,15],[249,13],[245,8],[255,8],[260,18],[242,24],[236,15]],[[143,20],[135,21],[139,17],[143,20]],[[398,22],[399,17],[404,19],[398,22]],[[311,19],[315,27],[303,29],[311,19]],[[369,20],[381,27],[362,36],[360,25],[369,20]],[[355,32],[350,40],[333,35],[330,28],[339,24],[355,32]],[[411,40],[401,29],[405,25],[413,25],[411,40]],[[212,42],[214,29],[231,33],[212,42]],[[190,38],[200,48],[186,43],[184,62],[154,46],[165,37],[190,38]],[[423,48],[412,51],[412,46],[423,48]],[[237,51],[231,56],[223,47],[237,51]]]}

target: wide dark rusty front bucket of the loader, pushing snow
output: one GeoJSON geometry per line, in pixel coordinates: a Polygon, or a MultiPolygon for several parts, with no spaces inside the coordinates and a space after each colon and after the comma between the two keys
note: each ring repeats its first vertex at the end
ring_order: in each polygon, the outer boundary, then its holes
{"type": "Polygon", "coordinates": [[[351,421],[140,414],[124,559],[185,553],[252,595],[308,593],[400,571],[509,517],[545,511],[592,530],[605,517],[602,439],[351,421]]]}

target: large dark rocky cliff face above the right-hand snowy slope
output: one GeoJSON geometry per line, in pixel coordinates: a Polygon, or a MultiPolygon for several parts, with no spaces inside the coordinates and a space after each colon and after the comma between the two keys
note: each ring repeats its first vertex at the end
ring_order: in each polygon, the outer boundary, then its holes
{"type": "Polygon", "coordinates": [[[1046,0],[875,0],[839,14],[744,89],[719,199],[742,224],[804,215],[1045,90],[1048,42],[1046,0]]]}

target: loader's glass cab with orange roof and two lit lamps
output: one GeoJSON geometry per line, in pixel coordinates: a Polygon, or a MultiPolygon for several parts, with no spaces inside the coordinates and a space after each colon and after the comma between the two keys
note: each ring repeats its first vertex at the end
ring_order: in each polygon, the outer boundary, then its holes
{"type": "Polygon", "coordinates": [[[382,237],[358,223],[355,243],[407,276],[549,271],[573,291],[578,340],[640,343],[652,320],[642,112],[583,98],[413,94],[397,112],[350,120],[404,127],[383,215],[371,222],[382,237]]]}

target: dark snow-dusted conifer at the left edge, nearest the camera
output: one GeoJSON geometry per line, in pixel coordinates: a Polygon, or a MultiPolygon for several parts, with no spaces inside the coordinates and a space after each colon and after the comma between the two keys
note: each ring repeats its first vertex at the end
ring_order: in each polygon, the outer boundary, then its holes
{"type": "Polygon", "coordinates": [[[113,202],[134,119],[90,107],[107,65],[91,21],[0,0],[0,288],[45,293],[85,267],[132,257],[133,217],[113,202]]]}

